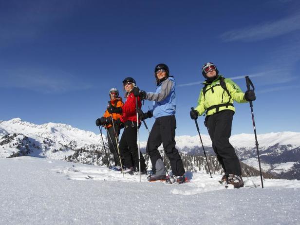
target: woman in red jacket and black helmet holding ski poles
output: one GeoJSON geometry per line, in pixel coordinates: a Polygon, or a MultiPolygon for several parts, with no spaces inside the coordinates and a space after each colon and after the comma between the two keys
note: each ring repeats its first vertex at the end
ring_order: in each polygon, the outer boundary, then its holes
{"type": "MultiPolygon", "coordinates": [[[[133,174],[134,170],[139,170],[138,147],[137,147],[137,126],[136,126],[136,97],[132,93],[135,87],[135,80],[127,77],[123,80],[124,90],[126,92],[126,102],[122,107],[110,106],[107,110],[110,113],[120,113],[120,122],[124,123],[124,131],[119,143],[120,154],[124,158],[124,165],[127,168],[124,173],[133,174]]],[[[137,97],[138,108],[141,108],[142,102],[137,97]]],[[[141,123],[138,121],[139,124],[141,123]]],[[[140,152],[141,172],[147,174],[145,159],[140,152]]]]}

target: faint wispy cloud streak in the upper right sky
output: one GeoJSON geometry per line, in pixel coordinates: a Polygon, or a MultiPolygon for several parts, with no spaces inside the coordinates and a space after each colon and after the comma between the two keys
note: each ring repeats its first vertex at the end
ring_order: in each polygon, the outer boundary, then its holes
{"type": "Polygon", "coordinates": [[[300,30],[300,13],[277,21],[269,21],[256,26],[234,29],[221,35],[224,41],[256,41],[273,38],[300,30]]]}

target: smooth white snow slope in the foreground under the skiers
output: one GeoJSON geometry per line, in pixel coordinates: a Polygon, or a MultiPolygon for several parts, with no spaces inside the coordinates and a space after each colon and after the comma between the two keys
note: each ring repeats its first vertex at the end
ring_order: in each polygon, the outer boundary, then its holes
{"type": "MultiPolygon", "coordinates": [[[[0,159],[0,224],[300,224],[300,181],[225,189],[220,175],[182,185],[37,157],[0,159]]],[[[244,178],[246,185],[260,177],[244,178]]]]}

